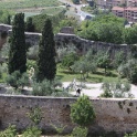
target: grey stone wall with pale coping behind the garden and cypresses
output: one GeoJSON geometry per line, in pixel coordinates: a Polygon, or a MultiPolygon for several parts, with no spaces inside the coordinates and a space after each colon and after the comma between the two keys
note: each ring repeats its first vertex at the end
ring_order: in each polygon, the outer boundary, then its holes
{"type": "MultiPolygon", "coordinates": [[[[11,34],[11,25],[0,24],[0,33],[3,31],[8,31],[8,33],[11,34]]],[[[57,33],[54,36],[56,48],[73,44],[77,48],[80,53],[86,53],[89,49],[94,49],[95,51],[108,51],[112,56],[114,56],[117,51],[124,51],[124,53],[129,52],[129,46],[126,44],[113,44],[81,39],[80,36],[73,34],[72,28],[64,28],[61,32],[62,33],[57,33]]],[[[41,33],[25,32],[25,41],[27,43],[30,43],[30,45],[38,45],[40,38],[41,33]]]]}

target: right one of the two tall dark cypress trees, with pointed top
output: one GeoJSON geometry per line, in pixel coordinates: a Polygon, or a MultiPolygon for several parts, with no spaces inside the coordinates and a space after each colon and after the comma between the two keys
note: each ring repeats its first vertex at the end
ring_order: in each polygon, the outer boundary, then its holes
{"type": "Polygon", "coordinates": [[[39,44],[36,78],[38,81],[43,81],[44,78],[52,81],[54,80],[55,74],[56,63],[54,34],[52,30],[52,22],[50,19],[46,19],[39,44]]]}

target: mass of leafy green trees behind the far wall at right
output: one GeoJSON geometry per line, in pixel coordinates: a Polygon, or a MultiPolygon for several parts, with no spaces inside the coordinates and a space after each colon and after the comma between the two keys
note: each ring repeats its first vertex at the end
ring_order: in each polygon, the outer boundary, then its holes
{"type": "Polygon", "coordinates": [[[93,41],[135,44],[137,43],[137,27],[125,29],[126,22],[125,19],[113,14],[102,14],[93,21],[84,21],[78,35],[93,41]]]}

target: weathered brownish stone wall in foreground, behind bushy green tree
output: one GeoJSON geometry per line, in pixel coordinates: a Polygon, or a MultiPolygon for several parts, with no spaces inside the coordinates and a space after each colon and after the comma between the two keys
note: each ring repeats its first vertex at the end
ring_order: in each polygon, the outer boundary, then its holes
{"type": "MultiPolygon", "coordinates": [[[[8,96],[0,95],[0,128],[9,124],[24,129],[31,125],[28,113],[34,107],[41,108],[42,120],[39,126],[53,131],[55,126],[65,126],[70,133],[75,126],[70,119],[70,105],[76,98],[53,98],[36,96],[8,96]]],[[[122,135],[137,129],[137,99],[91,99],[96,120],[89,127],[91,133],[116,131],[122,135]]]]}

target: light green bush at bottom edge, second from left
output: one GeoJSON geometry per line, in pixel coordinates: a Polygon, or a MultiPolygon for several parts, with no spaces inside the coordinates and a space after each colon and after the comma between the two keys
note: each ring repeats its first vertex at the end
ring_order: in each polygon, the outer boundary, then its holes
{"type": "Polygon", "coordinates": [[[38,127],[29,127],[21,137],[41,137],[41,130],[38,127]]]}

